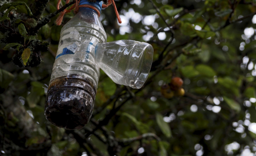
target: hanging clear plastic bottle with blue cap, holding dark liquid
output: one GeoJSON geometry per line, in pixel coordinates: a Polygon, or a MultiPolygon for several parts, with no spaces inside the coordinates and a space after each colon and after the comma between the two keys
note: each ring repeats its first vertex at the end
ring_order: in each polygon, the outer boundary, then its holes
{"type": "MultiPolygon", "coordinates": [[[[101,11],[101,1],[81,0],[101,11]]],[[[99,67],[95,46],[107,35],[95,10],[82,7],[63,26],[45,104],[48,121],[66,129],[81,129],[91,118],[99,67]]]]}

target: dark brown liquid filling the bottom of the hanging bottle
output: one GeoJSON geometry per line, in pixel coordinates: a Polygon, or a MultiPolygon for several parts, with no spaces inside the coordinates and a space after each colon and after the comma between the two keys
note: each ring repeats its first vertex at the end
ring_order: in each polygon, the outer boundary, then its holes
{"type": "Polygon", "coordinates": [[[48,88],[45,116],[57,127],[81,129],[90,120],[96,88],[79,74],[57,77],[48,88]]]}

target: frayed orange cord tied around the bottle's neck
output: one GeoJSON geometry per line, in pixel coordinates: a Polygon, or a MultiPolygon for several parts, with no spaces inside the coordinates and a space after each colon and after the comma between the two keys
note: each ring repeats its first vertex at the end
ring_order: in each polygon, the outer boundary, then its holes
{"type": "MultiPolygon", "coordinates": [[[[59,15],[59,17],[56,19],[56,25],[59,26],[61,25],[61,22],[63,20],[63,17],[65,15],[65,13],[68,13],[70,12],[72,9],[74,9],[74,13],[76,14],[78,11],[79,11],[79,7],[88,7],[88,8],[91,8],[93,10],[95,10],[98,14],[98,16],[100,16],[100,12],[99,10],[92,6],[92,5],[87,5],[87,4],[83,4],[83,5],[78,5],[80,2],[80,0],[75,0],[75,3],[69,8],[69,9],[65,9],[61,12],[61,14],[59,15]]],[[[66,0],[66,4],[69,3],[69,0],[66,0]]],[[[57,9],[59,10],[60,9],[60,4],[61,4],[61,0],[58,0],[58,3],[57,3],[57,9]]],[[[116,17],[117,17],[117,20],[118,20],[118,23],[122,23],[121,21],[121,18],[119,16],[119,13],[117,11],[117,8],[116,8],[116,4],[115,4],[115,1],[114,0],[108,0],[108,3],[107,4],[102,4],[102,8],[107,8],[108,6],[110,6],[111,4],[113,4],[114,6],[114,10],[115,10],[115,13],[116,13],[116,17]]]]}

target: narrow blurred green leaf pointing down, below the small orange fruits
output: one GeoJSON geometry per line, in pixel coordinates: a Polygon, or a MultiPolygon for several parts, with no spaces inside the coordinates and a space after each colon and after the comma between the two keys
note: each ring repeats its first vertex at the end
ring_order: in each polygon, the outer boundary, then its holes
{"type": "Polygon", "coordinates": [[[164,117],[160,113],[156,113],[156,120],[159,128],[166,137],[171,137],[171,129],[168,123],[166,123],[163,118],[164,117]]]}

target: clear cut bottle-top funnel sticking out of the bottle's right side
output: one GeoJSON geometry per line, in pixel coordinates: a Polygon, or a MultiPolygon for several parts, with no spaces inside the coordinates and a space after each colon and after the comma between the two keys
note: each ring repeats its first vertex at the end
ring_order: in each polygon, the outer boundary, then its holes
{"type": "Polygon", "coordinates": [[[152,45],[134,40],[99,43],[96,64],[116,83],[139,89],[147,80],[152,61],[152,45]]]}

